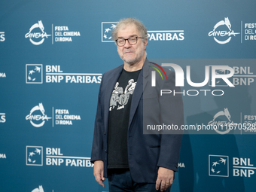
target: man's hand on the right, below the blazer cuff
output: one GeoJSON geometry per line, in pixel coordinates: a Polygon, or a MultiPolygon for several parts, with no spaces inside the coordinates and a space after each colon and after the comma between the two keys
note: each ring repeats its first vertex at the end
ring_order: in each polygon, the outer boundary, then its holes
{"type": "Polygon", "coordinates": [[[166,169],[164,167],[159,167],[157,182],[156,182],[156,190],[166,190],[169,186],[172,185],[174,172],[171,169],[166,169]]]}

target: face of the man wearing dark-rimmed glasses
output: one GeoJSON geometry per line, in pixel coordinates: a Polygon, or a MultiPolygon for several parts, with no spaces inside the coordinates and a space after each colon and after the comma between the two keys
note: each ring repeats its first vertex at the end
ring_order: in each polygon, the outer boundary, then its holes
{"type": "MultiPolygon", "coordinates": [[[[141,36],[134,24],[122,26],[117,32],[117,38],[130,38],[132,36],[141,36]]],[[[117,45],[117,52],[124,62],[133,65],[134,63],[142,60],[142,56],[145,55],[147,44],[148,39],[145,39],[145,42],[143,42],[142,38],[137,38],[136,44],[131,45],[128,43],[128,41],[126,41],[122,47],[117,45]]]]}

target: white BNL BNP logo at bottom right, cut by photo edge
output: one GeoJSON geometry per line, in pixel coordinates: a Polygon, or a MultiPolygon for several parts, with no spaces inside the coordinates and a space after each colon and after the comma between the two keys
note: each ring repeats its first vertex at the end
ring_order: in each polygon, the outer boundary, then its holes
{"type": "Polygon", "coordinates": [[[229,158],[227,155],[209,154],[209,176],[229,177],[233,175],[233,177],[251,178],[254,175],[254,169],[256,167],[251,158],[229,158]],[[232,160],[232,163],[229,160],[232,160]]]}

